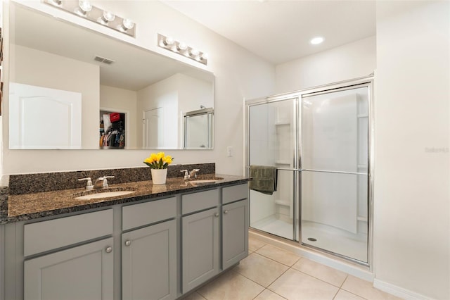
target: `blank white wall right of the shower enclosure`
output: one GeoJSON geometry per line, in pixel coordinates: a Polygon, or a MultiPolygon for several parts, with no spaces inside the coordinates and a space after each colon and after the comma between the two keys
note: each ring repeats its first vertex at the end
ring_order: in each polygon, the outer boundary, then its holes
{"type": "Polygon", "coordinates": [[[375,287],[409,298],[450,299],[449,16],[377,4],[375,287]]]}

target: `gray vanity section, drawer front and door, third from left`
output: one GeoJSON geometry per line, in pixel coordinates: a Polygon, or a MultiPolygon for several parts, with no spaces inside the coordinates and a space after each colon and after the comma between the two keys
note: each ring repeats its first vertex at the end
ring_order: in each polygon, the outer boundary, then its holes
{"type": "Polygon", "coordinates": [[[181,196],[182,293],[219,274],[218,205],[218,189],[181,196]]]}

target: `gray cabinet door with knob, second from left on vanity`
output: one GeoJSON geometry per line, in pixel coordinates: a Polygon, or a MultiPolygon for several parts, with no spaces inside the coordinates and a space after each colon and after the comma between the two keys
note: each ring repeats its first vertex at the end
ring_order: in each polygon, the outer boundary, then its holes
{"type": "Polygon", "coordinates": [[[122,299],[176,298],[176,221],[122,234],[122,299]]]}

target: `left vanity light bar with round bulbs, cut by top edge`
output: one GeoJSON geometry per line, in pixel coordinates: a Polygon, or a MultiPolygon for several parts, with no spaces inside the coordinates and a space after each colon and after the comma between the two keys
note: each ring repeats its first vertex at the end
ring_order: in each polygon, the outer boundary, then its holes
{"type": "Polygon", "coordinates": [[[136,24],[134,24],[133,21],[127,18],[121,18],[110,11],[104,11],[101,8],[93,6],[89,1],[44,0],[44,3],[62,9],[63,11],[73,13],[74,15],[78,15],[80,18],[91,20],[105,27],[117,30],[125,35],[131,37],[134,37],[135,35],[136,24]]]}

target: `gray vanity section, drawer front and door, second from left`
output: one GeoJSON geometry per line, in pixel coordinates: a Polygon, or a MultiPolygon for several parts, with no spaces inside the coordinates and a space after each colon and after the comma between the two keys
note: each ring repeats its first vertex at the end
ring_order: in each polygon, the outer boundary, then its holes
{"type": "Polygon", "coordinates": [[[122,207],[122,299],[176,298],[175,217],[175,197],[122,207]]]}

